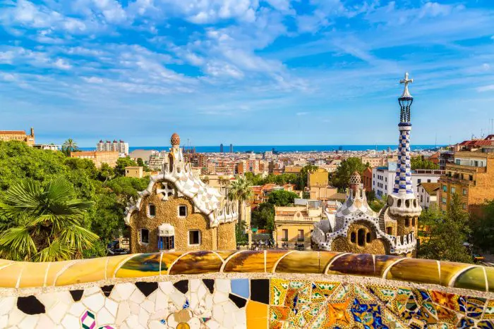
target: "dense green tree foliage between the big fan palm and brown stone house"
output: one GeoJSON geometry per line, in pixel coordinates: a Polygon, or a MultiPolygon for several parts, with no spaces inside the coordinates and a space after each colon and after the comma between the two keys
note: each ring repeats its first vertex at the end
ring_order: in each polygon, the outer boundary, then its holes
{"type": "Polygon", "coordinates": [[[26,178],[38,182],[40,188],[64,178],[73,188],[73,199],[90,202],[81,227],[100,237],[85,255],[101,255],[102,244],[125,228],[123,212],[128,200],[137,197],[149,182],[149,178],[123,177],[123,168],[135,166],[135,161],[122,158],[118,165],[116,170],[107,165],[98,169],[88,159],[68,158],[60,151],[35,149],[23,142],[0,142],[0,201],[6,203],[7,190],[26,178]]]}

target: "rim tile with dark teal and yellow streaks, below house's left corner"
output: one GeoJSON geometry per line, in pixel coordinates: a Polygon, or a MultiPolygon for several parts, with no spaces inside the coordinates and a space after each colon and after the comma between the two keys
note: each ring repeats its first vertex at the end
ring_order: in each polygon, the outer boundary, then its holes
{"type": "Polygon", "coordinates": [[[116,271],[115,278],[140,278],[145,276],[159,275],[159,268],[166,271],[166,268],[159,263],[161,253],[138,254],[132,257],[116,271]]]}

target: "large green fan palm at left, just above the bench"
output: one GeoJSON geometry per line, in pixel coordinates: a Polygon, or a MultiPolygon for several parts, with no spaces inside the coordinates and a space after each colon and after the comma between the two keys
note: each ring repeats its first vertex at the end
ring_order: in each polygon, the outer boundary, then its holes
{"type": "Polygon", "coordinates": [[[0,257],[24,261],[81,258],[99,237],[83,228],[92,202],[76,199],[72,185],[57,178],[46,186],[23,180],[0,203],[0,257]]]}

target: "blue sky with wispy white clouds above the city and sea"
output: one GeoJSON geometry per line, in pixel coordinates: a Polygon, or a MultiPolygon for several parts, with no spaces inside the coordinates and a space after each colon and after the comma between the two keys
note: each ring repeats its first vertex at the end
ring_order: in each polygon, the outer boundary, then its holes
{"type": "Polygon", "coordinates": [[[494,4],[420,0],[0,0],[0,130],[37,142],[394,144],[494,118],[494,4]]]}

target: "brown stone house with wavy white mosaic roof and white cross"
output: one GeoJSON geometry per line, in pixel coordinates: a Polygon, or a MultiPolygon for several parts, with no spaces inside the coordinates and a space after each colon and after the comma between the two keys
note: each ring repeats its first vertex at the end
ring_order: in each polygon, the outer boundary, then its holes
{"type": "Polygon", "coordinates": [[[192,173],[174,134],[167,166],[126,210],[131,252],[236,249],[236,204],[192,173]]]}

